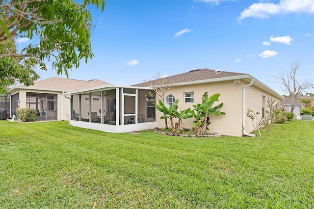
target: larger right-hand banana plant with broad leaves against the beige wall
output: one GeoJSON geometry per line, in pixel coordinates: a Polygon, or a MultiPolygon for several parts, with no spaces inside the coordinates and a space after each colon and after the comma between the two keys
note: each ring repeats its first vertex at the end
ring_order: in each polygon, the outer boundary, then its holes
{"type": "Polygon", "coordinates": [[[220,94],[214,94],[211,97],[208,97],[208,92],[205,92],[202,97],[202,104],[193,105],[194,110],[192,115],[195,117],[196,121],[193,121],[194,130],[199,135],[204,135],[210,124],[209,115],[225,115],[225,112],[217,110],[222,107],[223,103],[218,104],[217,106],[212,107],[214,102],[219,101],[220,94]]]}

